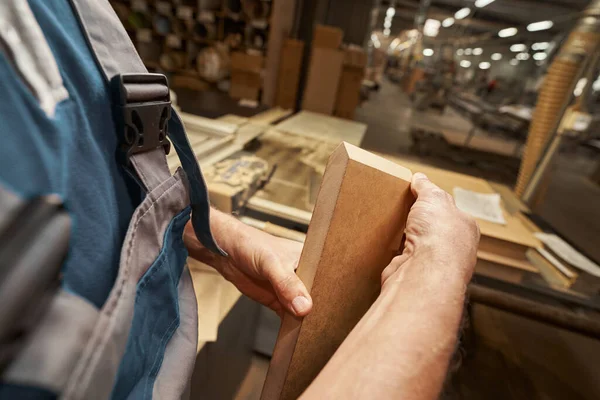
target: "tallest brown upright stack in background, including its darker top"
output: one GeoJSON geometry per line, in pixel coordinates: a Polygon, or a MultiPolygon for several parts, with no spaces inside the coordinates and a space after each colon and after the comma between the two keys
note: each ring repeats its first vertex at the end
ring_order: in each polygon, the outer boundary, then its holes
{"type": "Polygon", "coordinates": [[[343,36],[339,28],[315,27],[302,109],[333,114],[344,62],[344,53],[339,50],[343,36]]]}

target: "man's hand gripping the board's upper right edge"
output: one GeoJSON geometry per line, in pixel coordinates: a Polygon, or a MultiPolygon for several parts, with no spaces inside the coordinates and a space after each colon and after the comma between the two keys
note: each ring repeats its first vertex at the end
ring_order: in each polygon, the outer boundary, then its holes
{"type": "Polygon", "coordinates": [[[404,249],[383,271],[384,287],[401,278],[401,267],[409,261],[420,268],[436,268],[449,279],[466,284],[477,261],[477,222],[424,174],[413,175],[411,190],[416,202],[408,214],[404,249]]]}

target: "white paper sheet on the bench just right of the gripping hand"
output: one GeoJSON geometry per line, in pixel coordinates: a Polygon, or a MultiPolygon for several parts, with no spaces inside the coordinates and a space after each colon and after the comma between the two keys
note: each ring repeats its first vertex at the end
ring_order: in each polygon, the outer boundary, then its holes
{"type": "Polygon", "coordinates": [[[455,187],[454,201],[460,210],[475,218],[506,225],[498,193],[477,193],[455,187]]]}

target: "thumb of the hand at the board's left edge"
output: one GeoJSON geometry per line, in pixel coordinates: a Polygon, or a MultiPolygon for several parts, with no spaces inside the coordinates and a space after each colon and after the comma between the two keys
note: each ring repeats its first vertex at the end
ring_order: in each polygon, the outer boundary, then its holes
{"type": "Polygon", "coordinates": [[[298,275],[281,266],[272,266],[266,272],[279,301],[289,312],[298,317],[310,312],[312,299],[298,275]]]}

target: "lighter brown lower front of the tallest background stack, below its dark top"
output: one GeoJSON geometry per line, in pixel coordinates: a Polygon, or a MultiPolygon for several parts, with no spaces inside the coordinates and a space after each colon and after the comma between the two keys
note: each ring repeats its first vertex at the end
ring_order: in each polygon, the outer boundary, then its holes
{"type": "Polygon", "coordinates": [[[343,62],[344,52],[340,50],[313,48],[302,99],[303,110],[333,114],[343,62]]]}

